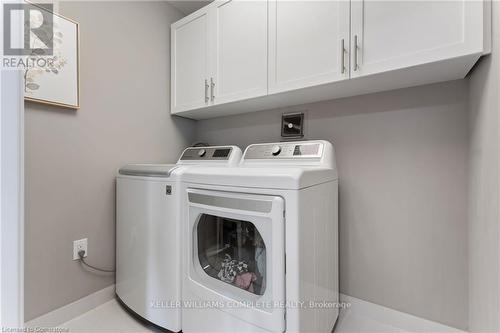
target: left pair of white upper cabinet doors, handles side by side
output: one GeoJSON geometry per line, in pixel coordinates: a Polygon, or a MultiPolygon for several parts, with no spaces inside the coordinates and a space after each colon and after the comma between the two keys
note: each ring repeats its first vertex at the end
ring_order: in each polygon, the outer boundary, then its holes
{"type": "Polygon", "coordinates": [[[267,1],[214,1],[172,24],[172,113],[267,95],[267,1]]]}

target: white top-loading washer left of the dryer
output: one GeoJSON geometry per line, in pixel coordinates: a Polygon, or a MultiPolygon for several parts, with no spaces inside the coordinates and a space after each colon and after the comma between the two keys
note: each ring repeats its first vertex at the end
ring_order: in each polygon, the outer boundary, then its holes
{"type": "Polygon", "coordinates": [[[139,316],[181,330],[179,184],[196,165],[235,166],[235,146],[187,148],[177,164],[131,164],[116,184],[116,294],[139,316]]]}

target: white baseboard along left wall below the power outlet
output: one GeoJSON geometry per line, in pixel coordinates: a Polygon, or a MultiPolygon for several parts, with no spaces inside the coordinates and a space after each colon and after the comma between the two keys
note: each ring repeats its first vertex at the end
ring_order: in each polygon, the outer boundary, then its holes
{"type": "Polygon", "coordinates": [[[57,327],[79,315],[115,298],[115,285],[101,289],[86,297],[25,323],[25,327],[57,327]]]}

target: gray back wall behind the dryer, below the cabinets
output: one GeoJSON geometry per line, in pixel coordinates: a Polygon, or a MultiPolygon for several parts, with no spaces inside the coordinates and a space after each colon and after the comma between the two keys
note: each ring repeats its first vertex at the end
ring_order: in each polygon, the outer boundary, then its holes
{"type": "Polygon", "coordinates": [[[340,175],[342,293],[466,329],[465,80],[200,121],[211,144],[280,140],[283,111],[331,141],[340,175]]]}

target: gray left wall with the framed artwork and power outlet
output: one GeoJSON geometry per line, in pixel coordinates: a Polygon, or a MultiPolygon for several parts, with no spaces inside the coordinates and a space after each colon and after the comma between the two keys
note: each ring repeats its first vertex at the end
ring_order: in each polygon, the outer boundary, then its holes
{"type": "Polygon", "coordinates": [[[26,105],[25,319],[114,283],[72,261],[114,266],[114,175],[129,162],[173,162],[194,122],[169,116],[170,23],[165,2],[67,2],[80,23],[81,109],[26,105]],[[147,36],[148,38],[144,38],[147,36]]]}

